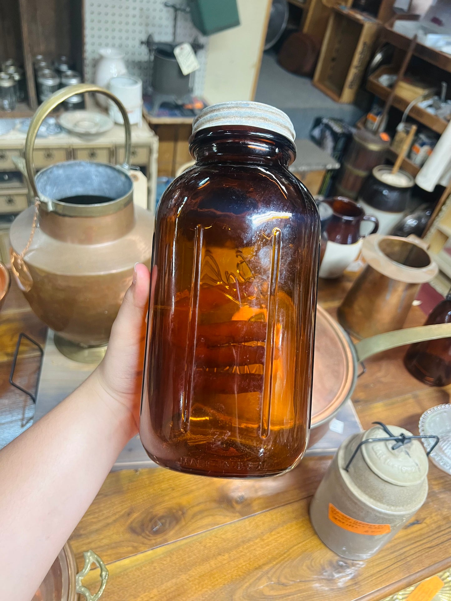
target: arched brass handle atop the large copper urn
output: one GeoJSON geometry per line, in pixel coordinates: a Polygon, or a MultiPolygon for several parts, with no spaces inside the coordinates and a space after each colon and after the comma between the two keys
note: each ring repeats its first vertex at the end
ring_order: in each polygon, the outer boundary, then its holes
{"type": "Polygon", "coordinates": [[[31,187],[32,194],[34,198],[39,198],[39,194],[37,191],[37,186],[34,178],[34,160],[33,160],[33,151],[34,144],[36,141],[36,136],[38,129],[42,125],[44,119],[48,117],[48,115],[57,108],[61,102],[69,99],[76,94],[86,94],[88,92],[96,92],[97,94],[103,94],[111,99],[117,108],[120,110],[122,118],[124,120],[125,126],[125,156],[123,168],[129,169],[130,165],[130,153],[132,148],[132,129],[130,127],[129,117],[127,115],[127,111],[124,105],[120,102],[120,100],[114,96],[109,90],[105,90],[104,88],[100,88],[98,85],[94,84],[76,84],[69,85],[62,90],[58,90],[55,94],[52,94],[45,102],[41,104],[41,106],[37,109],[31,123],[29,124],[28,133],[26,134],[25,141],[25,163],[26,163],[26,172],[28,174],[28,180],[31,187]]]}

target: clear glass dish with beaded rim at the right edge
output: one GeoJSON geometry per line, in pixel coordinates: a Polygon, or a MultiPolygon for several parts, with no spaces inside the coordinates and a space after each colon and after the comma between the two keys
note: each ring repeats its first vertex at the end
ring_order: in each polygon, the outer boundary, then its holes
{"type": "MultiPolygon", "coordinates": [[[[440,442],[432,451],[432,462],[447,474],[451,474],[451,404],[437,405],[423,413],[418,424],[420,435],[437,435],[440,442]]],[[[432,439],[423,439],[426,451],[434,444],[432,439]]]]}

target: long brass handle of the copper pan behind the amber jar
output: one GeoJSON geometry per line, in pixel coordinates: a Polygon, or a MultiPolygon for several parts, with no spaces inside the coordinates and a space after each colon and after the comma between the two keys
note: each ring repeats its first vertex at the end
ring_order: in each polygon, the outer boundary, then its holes
{"type": "Polygon", "coordinates": [[[384,350],[438,338],[451,338],[451,323],[435,323],[430,326],[418,326],[417,328],[405,328],[377,334],[355,344],[355,350],[358,361],[364,361],[371,355],[376,355],[384,350]]]}

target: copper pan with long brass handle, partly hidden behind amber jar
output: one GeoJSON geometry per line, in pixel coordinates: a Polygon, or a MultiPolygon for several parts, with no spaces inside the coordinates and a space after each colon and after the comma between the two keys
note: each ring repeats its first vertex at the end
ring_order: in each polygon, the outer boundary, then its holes
{"type": "Polygon", "coordinates": [[[325,435],[333,416],[351,398],[357,382],[358,362],[404,344],[450,337],[451,323],[440,323],[386,332],[353,344],[339,323],[318,307],[309,447],[325,435]]]}

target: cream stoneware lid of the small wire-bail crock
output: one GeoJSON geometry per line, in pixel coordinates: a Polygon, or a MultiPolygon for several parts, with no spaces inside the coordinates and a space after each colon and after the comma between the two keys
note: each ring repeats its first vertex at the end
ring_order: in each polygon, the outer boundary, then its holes
{"type": "MultiPolygon", "coordinates": [[[[394,436],[403,433],[412,436],[408,430],[398,426],[388,426],[394,436]]],[[[362,440],[368,438],[387,438],[381,426],[375,426],[364,433],[362,440]]],[[[372,472],[397,486],[420,484],[428,474],[428,457],[420,441],[410,441],[393,449],[393,441],[370,442],[361,447],[364,460],[372,472]]]]}

